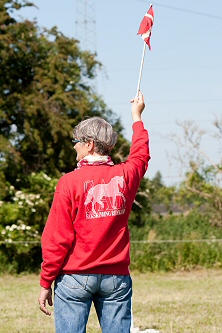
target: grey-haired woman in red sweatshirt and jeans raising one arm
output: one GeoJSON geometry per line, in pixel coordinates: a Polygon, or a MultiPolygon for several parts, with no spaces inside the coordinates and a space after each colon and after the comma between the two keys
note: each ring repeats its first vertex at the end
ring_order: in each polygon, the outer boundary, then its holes
{"type": "Polygon", "coordinates": [[[40,309],[50,315],[54,287],[57,333],[85,333],[92,302],[103,333],[127,333],[131,324],[128,218],[149,156],[141,92],[131,100],[133,138],[128,159],[114,165],[117,141],[99,117],[74,129],[77,169],[58,182],[42,235],[40,309]]]}

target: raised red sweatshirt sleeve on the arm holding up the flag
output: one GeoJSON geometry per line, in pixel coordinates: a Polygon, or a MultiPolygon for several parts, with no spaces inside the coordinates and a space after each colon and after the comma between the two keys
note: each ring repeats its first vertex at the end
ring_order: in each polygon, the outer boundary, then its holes
{"type": "Polygon", "coordinates": [[[146,173],[150,158],[148,131],[142,121],[137,121],[133,124],[132,145],[127,164],[139,181],[146,173]]]}

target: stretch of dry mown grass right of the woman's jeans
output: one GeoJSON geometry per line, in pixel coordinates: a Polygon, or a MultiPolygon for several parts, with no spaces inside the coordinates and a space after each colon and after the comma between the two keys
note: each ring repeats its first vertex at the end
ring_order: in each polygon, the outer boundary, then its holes
{"type": "Polygon", "coordinates": [[[164,333],[222,332],[221,271],[134,275],[134,322],[164,333]]]}

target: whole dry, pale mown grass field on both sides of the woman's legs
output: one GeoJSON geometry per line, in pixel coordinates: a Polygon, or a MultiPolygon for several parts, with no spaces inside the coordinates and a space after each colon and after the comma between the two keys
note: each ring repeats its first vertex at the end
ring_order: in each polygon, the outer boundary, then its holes
{"type": "MultiPolygon", "coordinates": [[[[132,278],[134,326],[161,333],[222,332],[222,270],[133,273],[132,278]]],[[[38,308],[38,280],[0,276],[1,333],[54,332],[53,311],[47,317],[38,308]]],[[[87,333],[99,332],[92,309],[87,333]]]]}

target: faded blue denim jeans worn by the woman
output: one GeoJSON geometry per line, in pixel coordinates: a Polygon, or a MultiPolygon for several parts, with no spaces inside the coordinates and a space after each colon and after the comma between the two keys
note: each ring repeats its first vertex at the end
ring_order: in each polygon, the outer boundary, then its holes
{"type": "Polygon", "coordinates": [[[130,332],[132,280],[128,275],[60,275],[54,296],[56,333],[86,333],[92,302],[103,333],[130,332]]]}

